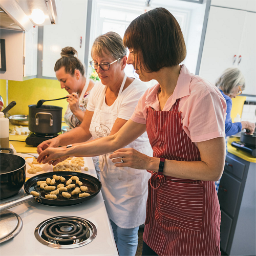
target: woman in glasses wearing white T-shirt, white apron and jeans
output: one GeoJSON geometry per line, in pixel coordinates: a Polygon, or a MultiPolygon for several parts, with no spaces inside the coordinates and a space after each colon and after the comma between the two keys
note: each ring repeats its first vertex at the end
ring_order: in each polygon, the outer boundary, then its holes
{"type": "MultiPolygon", "coordinates": [[[[114,135],[130,119],[147,87],[137,79],[126,77],[126,52],[122,38],[115,32],[108,32],[95,39],[91,50],[93,61],[90,64],[96,70],[100,82],[95,84],[90,93],[83,121],[72,131],[41,143],[37,149],[38,154],[48,146],[75,146],[74,143],[88,141],[91,137],[98,139],[114,135]]],[[[153,153],[144,132],[127,147],[148,156],[153,153]]],[[[145,221],[150,174],[146,170],[116,167],[109,155],[99,156],[101,191],[119,254],[135,255],[138,229],[145,221]]]]}

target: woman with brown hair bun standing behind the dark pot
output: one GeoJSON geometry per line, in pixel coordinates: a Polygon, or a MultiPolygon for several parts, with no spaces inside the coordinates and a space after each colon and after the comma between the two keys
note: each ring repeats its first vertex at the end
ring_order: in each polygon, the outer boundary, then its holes
{"type": "Polygon", "coordinates": [[[69,105],[64,118],[71,130],[81,124],[95,82],[84,76],[84,67],[75,56],[77,51],[73,47],[63,48],[60,55],[61,58],[56,61],[54,71],[60,81],[61,89],[69,93],[67,95],[69,105]]]}

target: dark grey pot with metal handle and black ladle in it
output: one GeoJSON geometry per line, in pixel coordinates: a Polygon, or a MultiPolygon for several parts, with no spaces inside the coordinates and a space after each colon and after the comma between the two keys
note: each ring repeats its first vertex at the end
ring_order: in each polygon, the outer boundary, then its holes
{"type": "Polygon", "coordinates": [[[60,106],[29,105],[29,131],[39,135],[52,135],[61,132],[62,108],[60,106]]]}

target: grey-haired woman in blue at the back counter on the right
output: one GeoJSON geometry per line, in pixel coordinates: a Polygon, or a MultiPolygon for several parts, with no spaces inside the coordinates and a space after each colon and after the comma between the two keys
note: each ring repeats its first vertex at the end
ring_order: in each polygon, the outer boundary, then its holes
{"type": "MultiPolygon", "coordinates": [[[[232,109],[232,98],[240,95],[245,89],[245,79],[242,72],[238,68],[228,68],[221,76],[217,79],[215,83],[217,88],[219,88],[221,94],[227,103],[227,115],[225,120],[225,132],[226,132],[226,154],[227,154],[227,137],[241,132],[243,129],[247,129],[247,133],[251,134],[255,130],[255,123],[248,121],[235,122],[232,123],[231,120],[231,109],[232,109]]],[[[220,180],[215,182],[215,187],[218,192],[220,180]]]]}

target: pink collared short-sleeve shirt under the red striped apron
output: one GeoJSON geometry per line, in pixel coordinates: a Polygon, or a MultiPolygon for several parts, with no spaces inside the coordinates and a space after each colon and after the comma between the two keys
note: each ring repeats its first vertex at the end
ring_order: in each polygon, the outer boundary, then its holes
{"type": "MultiPolygon", "coordinates": [[[[134,122],[146,123],[146,109],[159,111],[159,83],[146,90],[131,117],[134,122]]],[[[172,110],[177,99],[182,112],[182,126],[193,142],[225,137],[226,101],[214,84],[181,66],[177,86],[162,111],[172,110]]]]}

